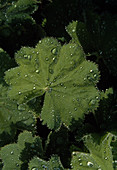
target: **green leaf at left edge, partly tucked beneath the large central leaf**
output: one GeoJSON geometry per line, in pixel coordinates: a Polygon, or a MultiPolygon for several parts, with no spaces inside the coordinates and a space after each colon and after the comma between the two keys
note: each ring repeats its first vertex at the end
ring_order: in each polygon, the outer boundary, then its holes
{"type": "Polygon", "coordinates": [[[12,139],[17,129],[34,130],[35,125],[33,112],[25,105],[17,106],[7,97],[7,90],[7,87],[0,85],[0,145],[5,142],[5,136],[10,135],[12,139]]]}

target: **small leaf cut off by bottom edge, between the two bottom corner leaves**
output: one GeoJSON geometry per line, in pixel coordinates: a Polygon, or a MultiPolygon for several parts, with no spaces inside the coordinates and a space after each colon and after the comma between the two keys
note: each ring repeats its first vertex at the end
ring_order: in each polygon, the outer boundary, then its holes
{"type": "Polygon", "coordinates": [[[58,156],[52,156],[49,161],[42,160],[38,157],[34,157],[30,162],[29,162],[29,170],[35,170],[35,169],[59,169],[59,170],[64,170],[60,159],[58,156]]]}

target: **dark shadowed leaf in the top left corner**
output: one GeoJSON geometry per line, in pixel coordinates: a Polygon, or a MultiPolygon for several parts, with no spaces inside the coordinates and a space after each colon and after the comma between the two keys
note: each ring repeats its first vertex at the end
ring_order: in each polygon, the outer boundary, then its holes
{"type": "Polygon", "coordinates": [[[36,0],[18,0],[1,2],[0,16],[4,22],[11,23],[14,19],[30,19],[34,22],[30,14],[38,9],[36,0]]]}

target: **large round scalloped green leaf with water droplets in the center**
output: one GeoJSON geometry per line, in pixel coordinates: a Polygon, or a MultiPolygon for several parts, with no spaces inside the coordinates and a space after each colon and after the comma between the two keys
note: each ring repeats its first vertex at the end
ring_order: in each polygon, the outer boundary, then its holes
{"type": "Polygon", "coordinates": [[[19,66],[5,76],[11,85],[9,96],[26,103],[45,94],[41,118],[50,129],[62,122],[69,126],[72,118],[83,118],[98,107],[98,67],[85,59],[81,46],[61,47],[56,39],[44,38],[35,49],[18,51],[16,62],[19,66]]]}

